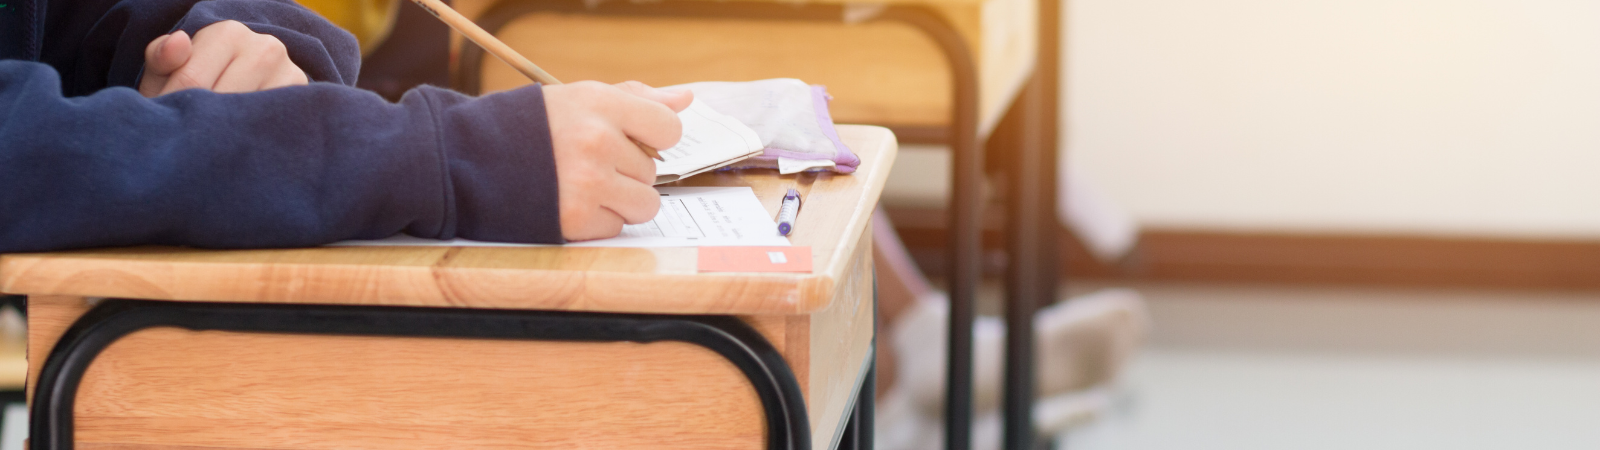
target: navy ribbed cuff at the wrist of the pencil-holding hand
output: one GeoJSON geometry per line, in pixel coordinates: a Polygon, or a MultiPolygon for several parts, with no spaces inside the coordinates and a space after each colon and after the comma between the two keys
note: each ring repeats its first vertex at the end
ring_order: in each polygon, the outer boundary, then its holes
{"type": "Polygon", "coordinates": [[[454,197],[454,237],[565,243],[542,88],[448,104],[438,117],[446,192],[454,197]]]}

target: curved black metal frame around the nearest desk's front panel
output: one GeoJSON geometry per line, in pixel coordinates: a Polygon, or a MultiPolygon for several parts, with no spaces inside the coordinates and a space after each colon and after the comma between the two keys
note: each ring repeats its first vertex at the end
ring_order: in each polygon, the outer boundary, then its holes
{"type": "MultiPolygon", "coordinates": [[[[877,295],[874,301],[875,298],[877,295]]],[[[104,299],[61,336],[45,360],[34,391],[29,424],[32,448],[74,448],[72,412],[83,373],[117,340],[154,327],[347,336],[683,341],[728,359],[750,381],[766,418],[766,448],[811,448],[805,397],[789,364],[755,328],[728,315],[149,299],[104,299]]],[[[856,396],[840,448],[872,448],[872,373],[869,360],[869,378],[856,396]]]]}

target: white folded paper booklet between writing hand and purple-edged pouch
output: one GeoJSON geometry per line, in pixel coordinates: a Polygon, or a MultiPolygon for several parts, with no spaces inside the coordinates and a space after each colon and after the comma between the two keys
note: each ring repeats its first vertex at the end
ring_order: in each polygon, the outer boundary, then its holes
{"type": "Polygon", "coordinates": [[[739,120],[717,112],[696,99],[678,112],[683,139],[661,151],[656,162],[656,184],[715,170],[762,154],[762,138],[739,120]]]}

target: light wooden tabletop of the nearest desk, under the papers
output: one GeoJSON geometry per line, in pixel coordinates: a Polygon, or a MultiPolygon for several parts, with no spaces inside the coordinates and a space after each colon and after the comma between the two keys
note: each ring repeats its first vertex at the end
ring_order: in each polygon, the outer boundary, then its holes
{"type": "MultiPolygon", "coordinates": [[[[699,175],[677,186],[750,186],[770,213],[805,199],[794,245],[811,274],[698,274],[696,248],[138,247],[0,256],[0,291],[179,301],[405,304],[664,314],[803,314],[832,301],[894,160],[894,135],[842,125],[854,175],[773,170],[699,175]]],[[[866,250],[870,251],[870,250],[866,250]]]]}

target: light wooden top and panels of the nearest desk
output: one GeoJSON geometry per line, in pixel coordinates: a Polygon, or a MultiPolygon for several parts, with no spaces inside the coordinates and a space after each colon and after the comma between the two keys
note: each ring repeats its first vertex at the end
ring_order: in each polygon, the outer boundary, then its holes
{"type": "MultiPolygon", "coordinates": [[[[0,291],[29,295],[30,396],[86,298],[728,314],[782,354],[813,448],[829,448],[872,357],[869,219],[896,151],[885,128],[840,136],[856,175],[685,181],[752,186],[773,213],[797,186],[806,210],[790,240],[811,247],[811,274],[696,274],[694,248],[118,248],[0,256],[0,291]]],[[[750,383],[683,343],[150,328],[94,359],[74,412],[80,448],[765,445],[750,383]]]]}

